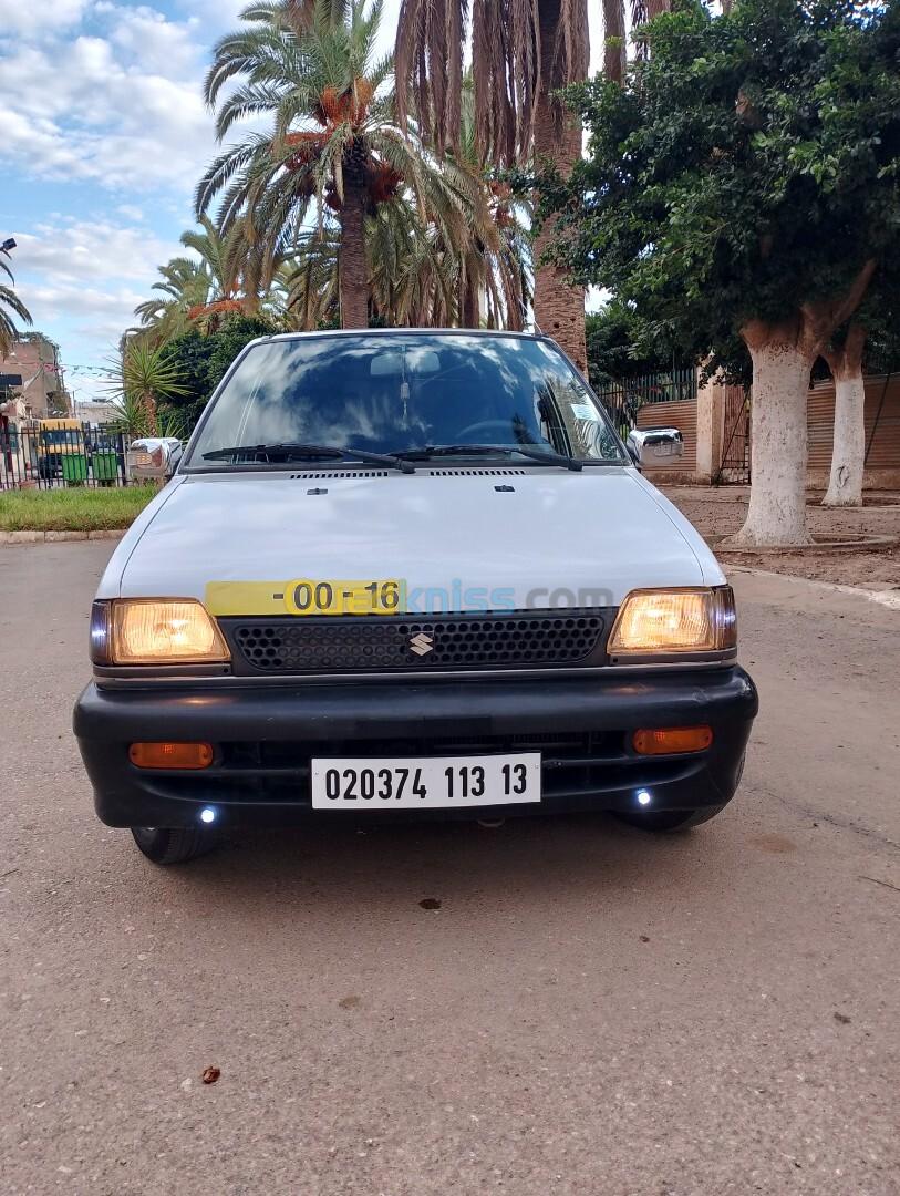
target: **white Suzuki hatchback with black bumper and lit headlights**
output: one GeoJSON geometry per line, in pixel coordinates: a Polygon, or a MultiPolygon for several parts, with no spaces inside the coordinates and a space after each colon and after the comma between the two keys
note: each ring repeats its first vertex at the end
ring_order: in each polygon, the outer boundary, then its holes
{"type": "Polygon", "coordinates": [[[220,828],[733,797],[757,691],[731,590],[543,336],[264,337],[118,545],[74,727],[160,864],[220,828]]]}

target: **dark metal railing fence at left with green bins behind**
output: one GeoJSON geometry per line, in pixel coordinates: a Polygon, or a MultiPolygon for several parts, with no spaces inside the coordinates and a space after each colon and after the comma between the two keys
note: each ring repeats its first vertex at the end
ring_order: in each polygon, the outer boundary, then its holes
{"type": "Polygon", "coordinates": [[[18,427],[0,422],[0,489],[127,486],[122,432],[81,427],[18,427]]]}

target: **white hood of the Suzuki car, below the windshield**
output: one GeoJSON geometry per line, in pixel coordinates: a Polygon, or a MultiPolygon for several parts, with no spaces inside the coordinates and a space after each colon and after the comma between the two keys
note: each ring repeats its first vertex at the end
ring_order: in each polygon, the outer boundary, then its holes
{"type": "Polygon", "coordinates": [[[630,468],[305,469],[177,477],[100,597],[203,599],[210,581],[300,578],[405,580],[423,611],[608,606],[639,587],[724,581],[630,468]]]}

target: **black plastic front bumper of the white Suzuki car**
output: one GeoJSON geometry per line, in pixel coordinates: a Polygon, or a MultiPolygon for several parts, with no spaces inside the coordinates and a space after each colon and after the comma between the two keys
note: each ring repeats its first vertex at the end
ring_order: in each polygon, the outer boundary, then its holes
{"type": "Polygon", "coordinates": [[[721,806],[737,787],[757,709],[755,687],[739,667],[424,683],[197,683],[189,690],[92,683],[75,706],[74,731],[97,813],[110,826],[195,826],[209,805],[220,825],[283,825],[313,814],[308,776],[317,756],[543,753],[539,804],[436,811],[440,817],[626,811],[636,808],[642,788],[651,792],[654,810],[721,806]],[[712,727],[705,751],[644,757],[631,749],[641,727],[697,724],[712,727]],[[206,740],[216,745],[216,758],[203,771],[137,769],[128,758],[135,740],[206,740]]]}

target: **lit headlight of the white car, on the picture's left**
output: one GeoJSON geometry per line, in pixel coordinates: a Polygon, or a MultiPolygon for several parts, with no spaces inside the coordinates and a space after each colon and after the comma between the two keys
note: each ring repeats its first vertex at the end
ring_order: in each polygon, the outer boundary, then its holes
{"type": "Polygon", "coordinates": [[[219,664],[229,653],[194,598],[117,598],[94,603],[91,658],[100,665],[194,665],[219,664]]]}

